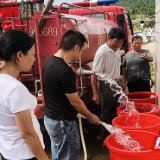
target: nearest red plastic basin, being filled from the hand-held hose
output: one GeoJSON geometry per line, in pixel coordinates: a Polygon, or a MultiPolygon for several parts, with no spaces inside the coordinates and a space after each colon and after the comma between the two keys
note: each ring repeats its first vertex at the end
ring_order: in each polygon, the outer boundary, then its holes
{"type": "Polygon", "coordinates": [[[152,150],[155,133],[147,131],[127,131],[132,138],[137,140],[144,147],[144,151],[127,151],[123,146],[114,140],[114,136],[108,136],[104,141],[104,146],[109,149],[110,160],[160,160],[160,151],[152,150]]]}

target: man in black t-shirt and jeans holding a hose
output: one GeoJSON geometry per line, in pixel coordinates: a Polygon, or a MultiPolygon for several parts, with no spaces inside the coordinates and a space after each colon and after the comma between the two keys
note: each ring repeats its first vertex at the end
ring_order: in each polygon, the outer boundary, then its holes
{"type": "Polygon", "coordinates": [[[68,65],[82,54],[87,42],[78,31],[68,30],[62,37],[57,53],[43,66],[43,93],[46,104],[44,124],[51,138],[52,160],[78,160],[80,147],[77,112],[92,124],[99,118],[86,108],[78,97],[76,78],[68,65]]]}

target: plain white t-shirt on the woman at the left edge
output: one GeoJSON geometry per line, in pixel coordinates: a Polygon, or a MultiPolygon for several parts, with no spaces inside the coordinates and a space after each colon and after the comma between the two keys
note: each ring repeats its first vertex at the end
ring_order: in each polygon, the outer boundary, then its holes
{"type": "Polygon", "coordinates": [[[36,98],[17,79],[0,74],[0,153],[10,160],[22,160],[35,157],[20,136],[14,113],[30,108],[32,122],[44,148],[40,125],[34,115],[36,98]]]}

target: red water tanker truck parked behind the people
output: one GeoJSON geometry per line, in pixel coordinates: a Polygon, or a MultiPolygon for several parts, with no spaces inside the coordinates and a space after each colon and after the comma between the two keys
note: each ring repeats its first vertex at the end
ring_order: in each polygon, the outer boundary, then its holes
{"type": "Polygon", "coordinates": [[[125,51],[130,49],[133,35],[129,11],[109,5],[118,0],[103,0],[103,4],[100,1],[62,3],[60,6],[54,6],[53,1],[49,0],[43,11],[42,0],[0,1],[0,32],[16,28],[29,33],[36,40],[36,62],[30,72],[20,74],[19,80],[37,97],[35,114],[39,119],[43,118],[45,110],[42,66],[49,56],[57,52],[61,37],[68,29],[82,32],[88,41],[80,59],[72,63],[79,68],[77,87],[79,96],[87,105],[93,103],[90,85],[93,58],[98,47],[106,42],[107,33],[112,27],[122,27],[126,35],[123,45],[125,51]],[[35,3],[39,4],[39,11],[33,10],[35,3]],[[20,5],[21,12],[19,12],[20,5]],[[69,10],[69,8],[74,9],[69,10]]]}

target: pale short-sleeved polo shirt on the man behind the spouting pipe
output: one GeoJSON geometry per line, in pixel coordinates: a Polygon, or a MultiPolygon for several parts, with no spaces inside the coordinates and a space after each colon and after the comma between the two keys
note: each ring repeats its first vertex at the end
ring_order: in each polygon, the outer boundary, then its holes
{"type": "MultiPolygon", "coordinates": [[[[120,78],[120,50],[119,48],[114,52],[107,43],[101,45],[94,57],[93,71],[96,75],[106,74],[112,79],[120,78]]],[[[105,80],[103,77],[98,76],[98,80],[105,80]]]]}

